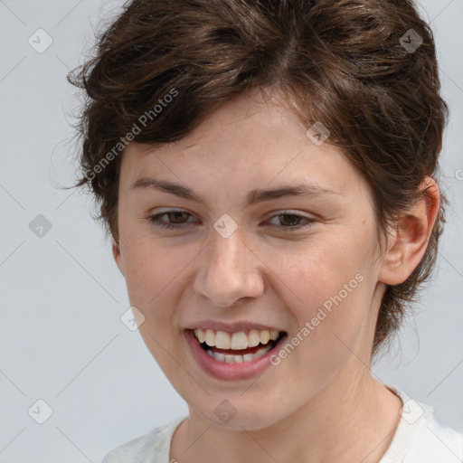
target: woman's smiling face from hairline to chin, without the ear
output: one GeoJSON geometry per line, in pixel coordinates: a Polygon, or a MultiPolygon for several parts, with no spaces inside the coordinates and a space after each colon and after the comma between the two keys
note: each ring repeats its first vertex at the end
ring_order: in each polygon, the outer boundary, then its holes
{"type": "Polygon", "coordinates": [[[114,254],[140,333],[220,426],[265,428],[369,373],[384,288],[371,191],[306,131],[253,91],[180,142],[124,152],[114,254]]]}

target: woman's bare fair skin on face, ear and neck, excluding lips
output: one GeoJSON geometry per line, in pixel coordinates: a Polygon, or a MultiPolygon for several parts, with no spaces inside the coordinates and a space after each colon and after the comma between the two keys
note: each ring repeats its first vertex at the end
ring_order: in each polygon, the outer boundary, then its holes
{"type": "Polygon", "coordinates": [[[314,144],[278,91],[271,97],[252,90],[181,141],[156,148],[132,143],[122,159],[114,258],[131,305],[145,317],[139,330],[146,346],[189,407],[170,458],[378,462],[402,401],[370,371],[374,326],[385,285],[407,279],[426,250],[439,189],[426,178],[429,197],[391,230],[380,253],[364,177],[335,146],[314,144]],[[184,184],[207,205],[130,188],[142,176],[184,184]],[[255,188],[299,183],[335,194],[244,203],[255,188]],[[183,229],[147,220],[171,208],[191,214],[162,217],[183,229]],[[315,222],[288,231],[305,223],[279,220],[288,210],[315,222]],[[213,228],[223,213],[238,224],[228,238],[213,228]],[[278,326],[290,338],[358,273],[363,281],[259,378],[215,379],[184,341],[184,327],[205,319],[278,326]],[[228,423],[214,413],[223,400],[236,409],[228,423]]]}

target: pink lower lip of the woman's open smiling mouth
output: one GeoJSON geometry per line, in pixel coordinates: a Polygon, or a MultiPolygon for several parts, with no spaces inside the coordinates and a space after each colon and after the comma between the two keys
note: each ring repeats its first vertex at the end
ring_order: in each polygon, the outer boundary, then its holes
{"type": "Polygon", "coordinates": [[[286,335],[283,336],[279,340],[279,343],[270,349],[267,354],[251,360],[250,362],[226,364],[224,362],[219,362],[207,354],[194,336],[193,331],[189,329],[184,330],[184,336],[186,342],[190,345],[194,359],[203,368],[203,371],[214,378],[226,381],[245,380],[263,373],[271,365],[270,357],[276,352],[279,352],[280,345],[284,343],[287,337],[286,335]]]}

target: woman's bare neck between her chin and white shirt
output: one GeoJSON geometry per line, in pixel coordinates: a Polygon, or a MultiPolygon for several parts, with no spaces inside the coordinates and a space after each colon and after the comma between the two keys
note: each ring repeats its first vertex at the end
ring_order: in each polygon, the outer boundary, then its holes
{"type": "Polygon", "coordinates": [[[402,401],[354,355],[348,366],[298,411],[260,430],[227,430],[190,410],[175,431],[171,458],[182,463],[378,463],[399,423],[402,401]]]}

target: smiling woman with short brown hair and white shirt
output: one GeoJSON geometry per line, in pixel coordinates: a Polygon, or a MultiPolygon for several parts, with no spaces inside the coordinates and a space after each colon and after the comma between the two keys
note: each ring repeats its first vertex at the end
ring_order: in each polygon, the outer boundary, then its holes
{"type": "Polygon", "coordinates": [[[448,107],[411,1],[132,0],[70,80],[79,185],[189,406],[104,463],[462,460],[370,370],[444,222],[448,107]]]}

